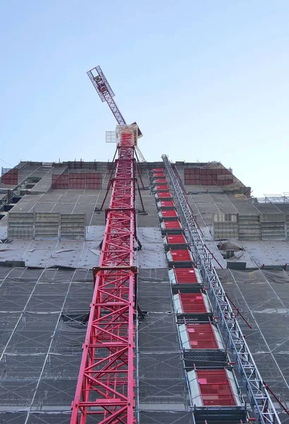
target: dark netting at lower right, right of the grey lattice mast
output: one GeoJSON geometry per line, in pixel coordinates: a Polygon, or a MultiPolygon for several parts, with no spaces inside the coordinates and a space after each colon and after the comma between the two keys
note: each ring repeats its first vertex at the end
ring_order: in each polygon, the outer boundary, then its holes
{"type": "Polygon", "coordinates": [[[246,341],[264,381],[281,401],[289,399],[289,276],[283,270],[218,270],[240,319],[246,341]]]}

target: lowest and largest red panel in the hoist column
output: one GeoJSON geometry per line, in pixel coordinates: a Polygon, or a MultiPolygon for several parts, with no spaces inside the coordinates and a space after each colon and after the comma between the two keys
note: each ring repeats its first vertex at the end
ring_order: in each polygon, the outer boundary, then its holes
{"type": "Polygon", "coordinates": [[[225,370],[198,370],[197,380],[204,406],[236,406],[225,370]]]}

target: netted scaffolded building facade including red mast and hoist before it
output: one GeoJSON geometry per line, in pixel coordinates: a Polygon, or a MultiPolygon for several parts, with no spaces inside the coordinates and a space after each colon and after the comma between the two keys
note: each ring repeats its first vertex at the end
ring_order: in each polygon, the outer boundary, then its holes
{"type": "Polygon", "coordinates": [[[2,170],[0,422],[289,423],[289,196],[134,131],[2,170]]]}

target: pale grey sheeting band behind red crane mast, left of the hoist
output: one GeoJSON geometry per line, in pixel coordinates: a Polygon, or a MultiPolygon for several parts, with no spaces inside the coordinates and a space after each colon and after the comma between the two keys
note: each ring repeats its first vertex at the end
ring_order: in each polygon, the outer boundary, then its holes
{"type": "MultiPolygon", "coordinates": [[[[25,261],[26,266],[92,269],[99,264],[103,226],[91,226],[88,240],[8,240],[0,245],[1,261],[25,261]]],[[[141,228],[142,249],[136,252],[138,266],[164,268],[164,245],[158,228],[141,228]]]]}

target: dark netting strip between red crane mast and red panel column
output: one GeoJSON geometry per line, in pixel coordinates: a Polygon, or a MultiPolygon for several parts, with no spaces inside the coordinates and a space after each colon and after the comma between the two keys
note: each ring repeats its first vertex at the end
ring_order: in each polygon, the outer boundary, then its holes
{"type": "Polygon", "coordinates": [[[137,285],[147,312],[138,333],[140,422],[189,423],[189,414],[180,412],[187,391],[168,270],[140,269],[137,285]]]}

